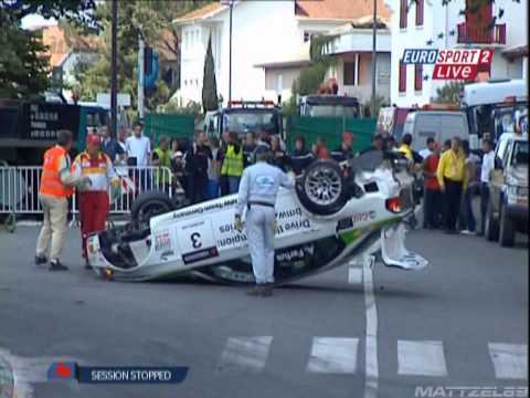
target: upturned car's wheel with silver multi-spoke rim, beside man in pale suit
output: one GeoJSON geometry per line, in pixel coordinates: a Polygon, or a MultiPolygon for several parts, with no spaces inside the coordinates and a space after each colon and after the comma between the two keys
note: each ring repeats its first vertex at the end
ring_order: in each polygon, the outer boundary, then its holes
{"type": "Polygon", "coordinates": [[[340,166],[332,160],[310,164],[296,185],[301,205],[310,212],[330,216],[348,200],[347,185],[340,166]]]}

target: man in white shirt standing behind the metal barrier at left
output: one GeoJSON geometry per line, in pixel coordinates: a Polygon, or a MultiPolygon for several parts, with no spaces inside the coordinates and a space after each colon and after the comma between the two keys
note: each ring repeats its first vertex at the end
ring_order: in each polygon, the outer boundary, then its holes
{"type": "Polygon", "coordinates": [[[135,123],[134,134],[125,142],[125,147],[127,165],[136,166],[134,177],[139,190],[147,190],[151,185],[149,170],[146,168],[151,159],[151,143],[144,136],[142,128],[144,125],[140,122],[135,123]]]}

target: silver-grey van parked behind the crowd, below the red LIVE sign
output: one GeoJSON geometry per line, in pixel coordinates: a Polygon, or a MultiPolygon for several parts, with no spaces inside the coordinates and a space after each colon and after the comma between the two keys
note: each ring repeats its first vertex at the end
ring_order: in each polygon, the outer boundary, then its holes
{"type": "Polygon", "coordinates": [[[411,112],[406,115],[403,127],[403,135],[405,134],[412,135],[412,149],[416,151],[425,148],[428,137],[441,144],[455,136],[469,139],[466,114],[455,111],[411,112]]]}

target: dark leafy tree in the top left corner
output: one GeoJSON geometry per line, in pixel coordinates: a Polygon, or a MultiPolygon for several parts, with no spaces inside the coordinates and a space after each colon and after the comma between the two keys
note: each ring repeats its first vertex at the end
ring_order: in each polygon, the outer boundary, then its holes
{"type": "Polygon", "coordinates": [[[38,13],[95,28],[94,8],[94,0],[0,0],[0,96],[33,97],[50,85],[41,32],[23,30],[22,18],[38,13]]]}

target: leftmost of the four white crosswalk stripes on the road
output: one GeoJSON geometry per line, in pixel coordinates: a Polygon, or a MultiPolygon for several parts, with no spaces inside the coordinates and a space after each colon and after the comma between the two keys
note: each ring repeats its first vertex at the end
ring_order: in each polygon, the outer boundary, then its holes
{"type": "Polygon", "coordinates": [[[218,364],[218,373],[259,373],[265,367],[273,336],[230,337],[218,364]]]}

